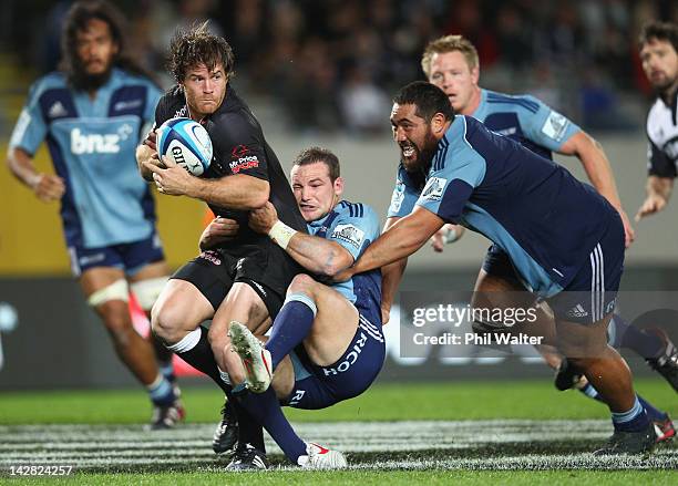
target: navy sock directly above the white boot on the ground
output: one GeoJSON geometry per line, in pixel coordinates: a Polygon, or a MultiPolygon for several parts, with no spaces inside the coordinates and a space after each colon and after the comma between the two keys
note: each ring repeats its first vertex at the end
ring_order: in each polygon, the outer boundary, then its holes
{"type": "MultiPolygon", "coordinates": [[[[299,456],[306,455],[306,444],[295,433],[282,414],[276,393],[268,389],[261,394],[245,393],[238,396],[244,409],[266,428],[292,464],[298,464],[299,456]]],[[[242,422],[240,422],[242,423],[242,422]]]]}

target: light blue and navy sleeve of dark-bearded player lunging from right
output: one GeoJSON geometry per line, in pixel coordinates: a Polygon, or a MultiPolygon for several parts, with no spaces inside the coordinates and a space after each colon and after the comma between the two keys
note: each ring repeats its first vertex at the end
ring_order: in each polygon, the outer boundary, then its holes
{"type": "MultiPolygon", "coordinates": [[[[465,136],[465,118],[458,116],[450,131],[463,131],[465,136]]],[[[429,180],[417,205],[446,221],[456,221],[473,189],[485,177],[485,172],[486,164],[481,154],[468,143],[450,146],[445,135],[438,145],[429,180]]]]}

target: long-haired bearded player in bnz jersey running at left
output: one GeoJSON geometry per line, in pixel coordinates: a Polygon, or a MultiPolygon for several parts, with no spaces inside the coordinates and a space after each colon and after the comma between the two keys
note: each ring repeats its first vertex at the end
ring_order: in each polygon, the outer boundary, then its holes
{"type": "Polygon", "coordinates": [[[119,358],[148,390],[152,426],[164,428],[184,416],[172,353],[136,333],[127,306],[131,289],[150,312],[168,275],[154,201],[134,159],[161,92],[130,56],[125,40],[120,12],[111,4],[72,6],[61,34],[60,70],[31,87],[8,165],[38,198],[61,201],[73,273],[119,358]],[[56,175],[33,165],[43,139],[56,175]]]}

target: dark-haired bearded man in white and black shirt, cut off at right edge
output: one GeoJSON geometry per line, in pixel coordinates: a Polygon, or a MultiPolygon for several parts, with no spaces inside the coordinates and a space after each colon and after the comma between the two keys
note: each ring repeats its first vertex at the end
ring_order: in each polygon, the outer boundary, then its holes
{"type": "MultiPolygon", "coordinates": [[[[647,115],[647,198],[636,220],[660,211],[668,204],[678,164],[678,25],[653,22],[639,39],[640,61],[657,100],[647,115]]],[[[678,360],[678,353],[674,356],[678,360]]]]}

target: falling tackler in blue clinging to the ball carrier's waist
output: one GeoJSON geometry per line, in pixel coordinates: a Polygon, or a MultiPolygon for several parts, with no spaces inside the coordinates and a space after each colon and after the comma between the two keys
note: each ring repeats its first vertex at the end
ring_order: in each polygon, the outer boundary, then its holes
{"type": "MultiPolygon", "coordinates": [[[[274,239],[311,275],[332,277],[353,265],[379,237],[379,218],[367,205],[340,200],[343,179],[339,159],[330,151],[302,151],[294,162],[290,179],[309,235],[285,227],[270,204],[253,211],[249,225],[274,239]]],[[[309,275],[298,275],[287,290],[266,348],[247,328],[232,324],[229,332],[245,364],[247,386],[256,392],[238,400],[294,464],[319,468],[346,465],[339,452],[299,438],[282,415],[278,399],[296,409],[317,410],[363,393],[386,358],[380,303],[379,270],[331,287],[309,275]],[[271,379],[275,392],[268,387],[271,379]]]]}

